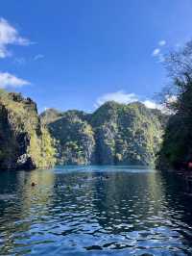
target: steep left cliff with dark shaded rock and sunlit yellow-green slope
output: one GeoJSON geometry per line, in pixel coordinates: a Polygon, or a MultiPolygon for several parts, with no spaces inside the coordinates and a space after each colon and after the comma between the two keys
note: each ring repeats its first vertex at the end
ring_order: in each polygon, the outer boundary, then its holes
{"type": "Polygon", "coordinates": [[[53,142],[41,126],[35,102],[0,90],[0,169],[53,166],[53,142]]]}

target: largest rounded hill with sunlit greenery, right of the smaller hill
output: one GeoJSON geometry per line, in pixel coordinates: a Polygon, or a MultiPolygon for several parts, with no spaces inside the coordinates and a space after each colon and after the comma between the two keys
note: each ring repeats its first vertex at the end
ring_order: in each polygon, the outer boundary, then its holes
{"type": "Polygon", "coordinates": [[[101,164],[151,165],[161,143],[159,112],[136,102],[108,102],[92,116],[98,162],[101,164]],[[107,162],[107,163],[106,163],[107,162]]]}

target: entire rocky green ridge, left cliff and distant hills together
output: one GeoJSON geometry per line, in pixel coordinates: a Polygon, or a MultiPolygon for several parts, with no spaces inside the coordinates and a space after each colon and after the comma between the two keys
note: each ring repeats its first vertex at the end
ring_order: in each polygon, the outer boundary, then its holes
{"type": "Polygon", "coordinates": [[[0,90],[0,169],[60,165],[152,165],[166,116],[142,103],[107,102],[93,114],[49,109],[0,90]]]}

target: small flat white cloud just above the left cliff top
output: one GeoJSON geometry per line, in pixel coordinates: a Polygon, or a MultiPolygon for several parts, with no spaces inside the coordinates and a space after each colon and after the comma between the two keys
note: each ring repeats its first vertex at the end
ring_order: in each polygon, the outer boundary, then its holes
{"type": "Polygon", "coordinates": [[[5,88],[20,88],[23,86],[30,85],[30,82],[18,78],[8,72],[2,73],[0,72],[0,88],[5,89],[5,88]]]}

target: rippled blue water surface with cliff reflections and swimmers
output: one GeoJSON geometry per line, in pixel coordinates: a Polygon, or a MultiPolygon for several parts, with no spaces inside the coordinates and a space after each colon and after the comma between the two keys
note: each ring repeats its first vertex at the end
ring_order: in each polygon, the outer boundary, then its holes
{"type": "Polygon", "coordinates": [[[0,255],[192,255],[190,188],[131,166],[2,172],[0,255]]]}

